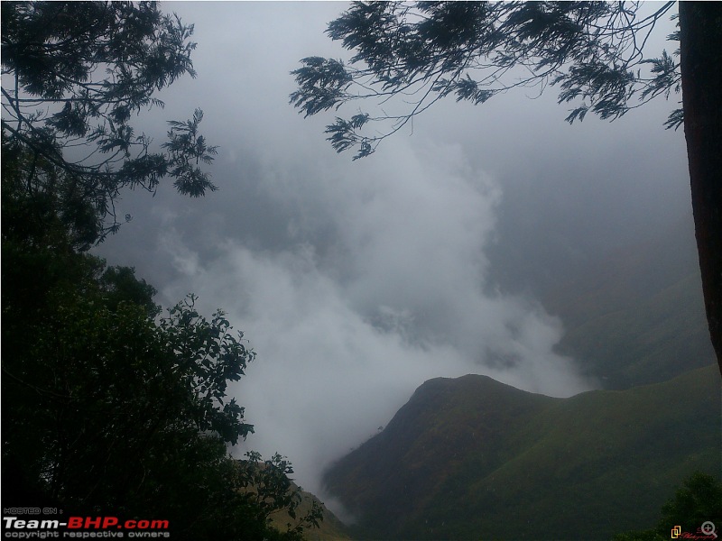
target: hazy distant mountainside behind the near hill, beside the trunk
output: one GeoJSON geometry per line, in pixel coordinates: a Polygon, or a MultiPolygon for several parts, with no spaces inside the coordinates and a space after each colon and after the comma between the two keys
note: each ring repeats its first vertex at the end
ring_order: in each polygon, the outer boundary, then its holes
{"type": "Polygon", "coordinates": [[[541,298],[564,324],[559,352],[606,389],[666,381],[716,361],[688,220],[590,262],[541,298]]]}

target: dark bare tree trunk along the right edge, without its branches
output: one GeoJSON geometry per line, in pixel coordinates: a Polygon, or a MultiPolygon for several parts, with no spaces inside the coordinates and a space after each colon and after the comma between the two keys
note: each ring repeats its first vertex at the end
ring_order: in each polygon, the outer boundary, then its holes
{"type": "Polygon", "coordinates": [[[722,2],[680,2],[680,53],[699,268],[722,372],[722,2]]]}

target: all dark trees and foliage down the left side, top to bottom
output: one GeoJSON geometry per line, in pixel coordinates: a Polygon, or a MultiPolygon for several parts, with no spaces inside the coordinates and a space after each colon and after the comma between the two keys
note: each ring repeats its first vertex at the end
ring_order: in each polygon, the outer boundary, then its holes
{"type": "Polygon", "coordinates": [[[166,175],[191,197],[214,189],[199,111],[171,122],[163,152],[129,124],[192,74],[192,27],[153,3],[2,10],[5,505],[168,520],[181,539],[301,539],[321,512],[297,515],[291,464],[227,451],[253,431],[227,396],[255,359],[243,334],[193,296],[162,316],[133,269],[87,253],[116,230],[121,189],[166,175]],[[291,519],[273,527],[280,510],[291,519]]]}

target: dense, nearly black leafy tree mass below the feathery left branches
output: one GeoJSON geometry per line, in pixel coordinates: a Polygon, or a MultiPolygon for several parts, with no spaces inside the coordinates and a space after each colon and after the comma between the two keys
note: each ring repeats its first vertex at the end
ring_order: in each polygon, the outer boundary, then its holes
{"type": "Polygon", "coordinates": [[[156,323],[153,289],[132,270],[87,254],[24,256],[14,264],[53,261],[73,276],[56,272],[42,307],[4,291],[5,501],[30,486],[76,512],[168,519],[188,539],[300,539],[318,525],[319,509],[283,533],[270,525],[300,500],[287,461],[227,454],[253,431],[227,384],[255,353],[221,312],[207,320],[191,296],[156,323]]]}

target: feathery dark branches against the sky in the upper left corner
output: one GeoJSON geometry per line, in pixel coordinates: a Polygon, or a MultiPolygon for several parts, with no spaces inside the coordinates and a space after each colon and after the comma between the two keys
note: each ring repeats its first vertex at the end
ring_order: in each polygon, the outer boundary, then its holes
{"type": "Polygon", "coordinates": [[[60,213],[78,218],[94,241],[120,225],[114,202],[122,188],[154,191],[171,177],[191,197],[216,189],[199,167],[217,151],[199,134],[199,109],[171,121],[160,148],[130,124],[163,105],[157,91],[195,77],[192,33],[154,2],[2,5],[4,151],[22,149],[28,193],[53,191],[60,213]],[[51,178],[40,162],[54,167],[51,178]],[[79,200],[89,215],[75,216],[79,200]]]}

